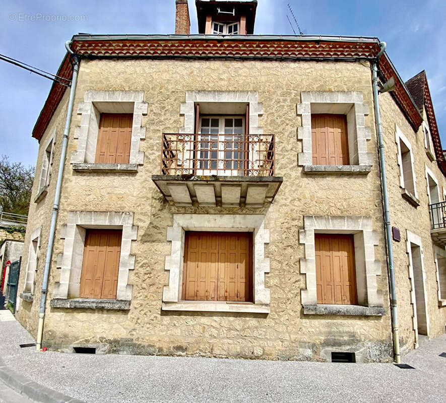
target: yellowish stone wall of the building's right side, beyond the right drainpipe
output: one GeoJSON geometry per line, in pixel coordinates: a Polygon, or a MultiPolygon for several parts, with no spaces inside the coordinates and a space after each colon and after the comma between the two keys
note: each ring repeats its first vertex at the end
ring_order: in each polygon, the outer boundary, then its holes
{"type": "MultiPolygon", "coordinates": [[[[438,181],[441,200],[444,200],[442,195],[444,194],[443,189],[446,186],[446,180],[436,165],[436,162],[431,161],[425,152],[422,127],[417,132],[414,131],[401,110],[395,105],[391,95],[381,94],[379,96],[379,102],[385,139],[391,222],[392,226],[399,228],[401,232],[401,242],[393,242],[400,344],[404,351],[408,351],[417,345],[417,334],[415,332],[416,318],[414,316],[413,304],[415,301],[413,284],[415,283],[413,283],[413,279],[411,278],[411,267],[409,266],[409,254],[407,250],[408,232],[416,234],[421,238],[427,315],[429,318],[427,335],[429,337],[436,337],[444,333],[446,308],[438,306],[438,281],[434,261],[434,245],[430,236],[431,224],[428,207],[429,198],[426,182],[426,167],[438,181]],[[412,146],[417,197],[420,204],[418,207],[410,204],[401,195],[398,148],[395,140],[396,126],[399,127],[412,146]]],[[[426,116],[424,118],[426,119],[426,116]]]]}

